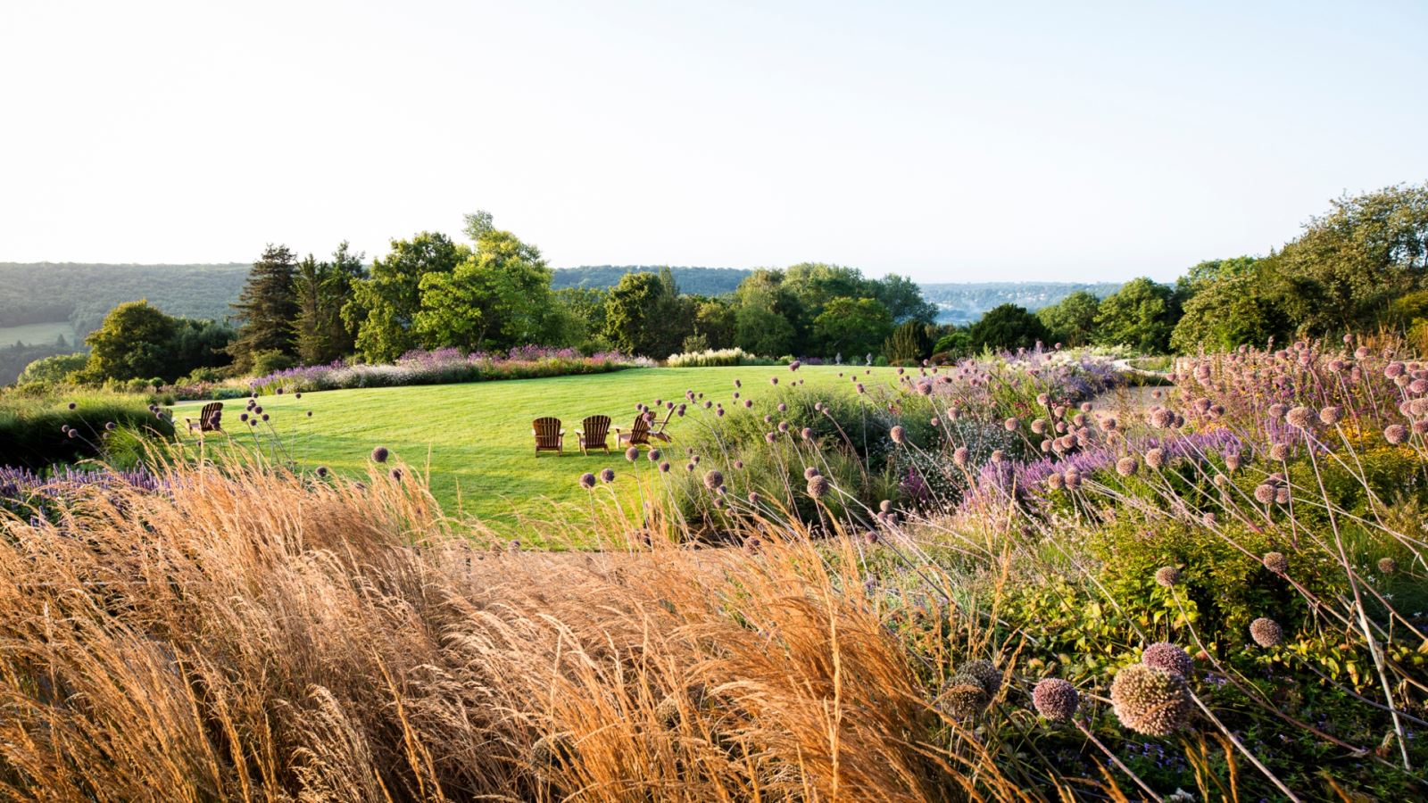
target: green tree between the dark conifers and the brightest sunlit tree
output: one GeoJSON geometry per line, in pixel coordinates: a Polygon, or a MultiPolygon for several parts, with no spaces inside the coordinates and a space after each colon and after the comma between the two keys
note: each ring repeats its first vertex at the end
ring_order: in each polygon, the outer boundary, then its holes
{"type": "Polygon", "coordinates": [[[417,347],[413,326],[421,310],[421,279],[451,273],[467,256],[470,249],[440,231],[393,240],[391,251],[371,263],[368,277],[353,283],[353,299],[343,307],[343,320],[357,329],[357,353],[390,363],[417,347]]]}

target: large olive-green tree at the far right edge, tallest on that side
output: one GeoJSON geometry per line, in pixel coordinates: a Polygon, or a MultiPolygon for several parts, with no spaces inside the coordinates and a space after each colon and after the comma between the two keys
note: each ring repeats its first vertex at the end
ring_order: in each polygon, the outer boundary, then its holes
{"type": "Polygon", "coordinates": [[[1299,333],[1367,330],[1424,284],[1428,184],[1337,199],[1268,261],[1271,291],[1299,333]]]}

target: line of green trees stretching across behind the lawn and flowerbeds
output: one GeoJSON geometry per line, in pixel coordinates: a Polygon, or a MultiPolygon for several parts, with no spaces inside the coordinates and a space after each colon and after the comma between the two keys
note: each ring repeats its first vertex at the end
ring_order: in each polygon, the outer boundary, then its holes
{"type": "MultiPolygon", "coordinates": [[[[1002,304],[970,326],[937,326],[937,307],[908,277],[824,263],[754,270],[717,296],[681,291],[668,269],[557,290],[540,249],[488,213],[468,214],[464,233],[470,243],[434,231],[391,240],[370,264],[346,243],[327,259],[270,244],[234,304],[237,329],[120,304],[86,339],[77,377],[203,380],[524,344],[910,364],[1037,343],[1187,353],[1397,327],[1428,347],[1428,184],[1338,199],[1268,256],[1202,261],[1174,284],[1135,279],[1104,299],[1077,291],[1037,313],[1002,304]]],[[[77,364],[66,360],[36,373],[77,364]]]]}

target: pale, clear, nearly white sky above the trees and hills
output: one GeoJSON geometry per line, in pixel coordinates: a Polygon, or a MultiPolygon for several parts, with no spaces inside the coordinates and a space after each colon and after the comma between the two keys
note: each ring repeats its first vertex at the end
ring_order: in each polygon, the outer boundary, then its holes
{"type": "Polygon", "coordinates": [[[0,261],[1170,280],[1428,180],[1428,3],[0,4],[0,261]]]}

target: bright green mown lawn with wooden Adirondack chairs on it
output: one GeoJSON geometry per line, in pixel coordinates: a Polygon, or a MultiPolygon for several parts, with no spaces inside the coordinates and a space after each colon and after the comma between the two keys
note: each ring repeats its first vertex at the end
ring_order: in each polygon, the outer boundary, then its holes
{"type": "MultiPolygon", "coordinates": [[[[260,403],[300,469],[327,466],[350,476],[364,476],[368,454],[386,446],[417,472],[430,467],[433,494],[447,513],[474,514],[497,529],[513,524],[517,513],[544,516],[545,499],[578,502],[585,492],[577,480],[585,472],[607,466],[621,472],[623,452],[610,433],[611,454],[580,454],[575,430],[585,416],[607,414],[613,426],[628,430],[635,404],[655,399],[683,402],[685,390],[731,407],[734,380],[743,381],[744,399],[755,402],[774,391],[768,381],[804,380],[808,386],[830,386],[853,393],[853,383],[838,366],[808,366],[791,373],[787,366],[718,369],[628,369],[623,371],[434,384],[421,387],[378,387],[264,396],[260,403]],[[311,410],[311,417],[307,412],[311,410]],[[565,427],[565,453],[533,452],[530,424],[538,416],[555,416],[565,427]]],[[[894,369],[873,369],[867,383],[894,383],[894,369]]],[[[237,443],[253,444],[251,433],[238,423],[246,402],[226,403],[224,426],[237,443]]],[[[177,404],[174,416],[197,416],[200,402],[177,404]]],[[[661,413],[663,416],[663,413],[661,413]]],[[[681,430],[700,426],[698,414],[674,417],[670,434],[680,443],[681,430]]],[[[683,454],[683,453],[681,453],[683,454]]],[[[618,484],[618,483],[617,483],[618,484]]]]}

